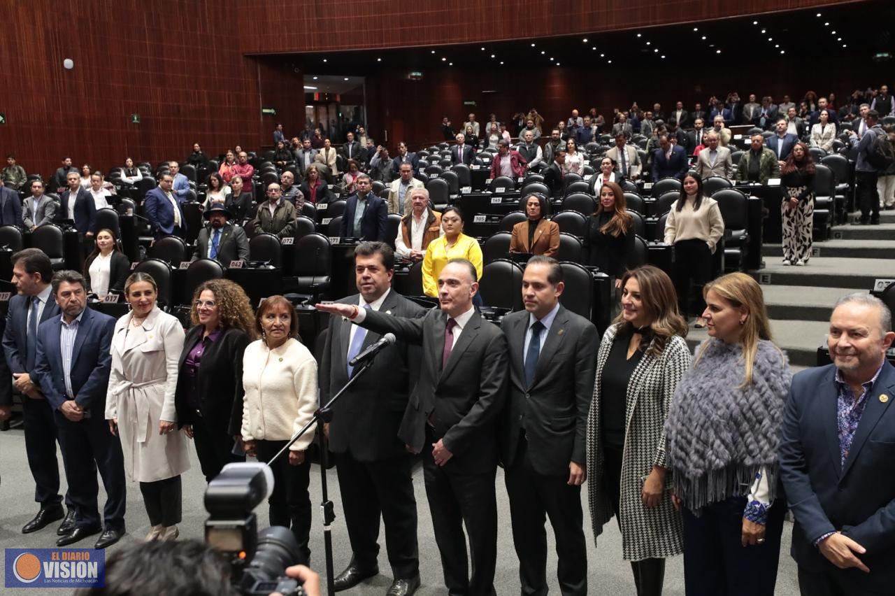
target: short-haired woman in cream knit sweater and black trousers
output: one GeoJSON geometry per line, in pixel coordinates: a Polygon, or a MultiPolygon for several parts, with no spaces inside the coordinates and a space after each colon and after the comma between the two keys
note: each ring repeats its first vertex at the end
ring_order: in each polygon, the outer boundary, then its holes
{"type": "MultiPolygon", "coordinates": [[[[311,421],[317,409],[317,362],[297,339],[298,319],[283,296],[261,302],[256,315],[261,339],[243,355],[243,445],[246,453],[267,463],[295,431],[311,421]]],[[[291,528],[303,560],[311,558],[311,464],[305,451],[313,429],[290,447],[289,456],[271,465],[274,491],[268,501],[270,524],[291,528]]]]}

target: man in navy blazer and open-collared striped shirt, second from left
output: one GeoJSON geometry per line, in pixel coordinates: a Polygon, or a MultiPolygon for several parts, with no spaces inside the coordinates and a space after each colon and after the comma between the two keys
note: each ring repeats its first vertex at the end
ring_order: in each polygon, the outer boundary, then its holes
{"type": "Polygon", "coordinates": [[[56,273],[53,294],[63,314],[38,328],[34,376],[54,411],[75,508],[74,529],[56,546],[102,532],[94,548],[105,549],[124,535],[124,456],[106,422],[115,319],[87,308],[87,288],[77,271],[56,273]],[[105,530],[97,507],[97,469],[107,493],[105,530]]]}

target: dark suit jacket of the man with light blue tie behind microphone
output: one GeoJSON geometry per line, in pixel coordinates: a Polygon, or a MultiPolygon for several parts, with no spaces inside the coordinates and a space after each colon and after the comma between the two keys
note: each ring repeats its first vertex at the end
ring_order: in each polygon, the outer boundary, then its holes
{"type": "MultiPolygon", "coordinates": [[[[359,294],[337,301],[357,304],[359,294]]],[[[418,319],[426,311],[404,296],[390,290],[379,312],[396,317],[418,319]]],[[[326,343],[320,359],[320,403],[326,404],[348,382],[347,357],[353,323],[331,315],[326,343]]],[[[369,331],[362,349],[382,336],[369,331]]],[[[333,404],[333,420],[329,424],[329,449],[333,453],[349,452],[355,460],[374,462],[407,452],[398,440],[398,429],[404,417],[413,387],[419,378],[420,348],[398,340],[379,353],[367,370],[345,394],[333,404]]],[[[357,369],[355,369],[356,371],[357,369]]]]}

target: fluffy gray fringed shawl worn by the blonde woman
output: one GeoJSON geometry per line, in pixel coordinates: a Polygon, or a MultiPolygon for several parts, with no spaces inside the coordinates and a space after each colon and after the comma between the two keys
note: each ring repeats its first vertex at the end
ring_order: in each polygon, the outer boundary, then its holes
{"type": "Polygon", "coordinates": [[[742,345],[708,339],[699,362],[678,384],[665,423],[675,493],[691,511],[746,495],[755,474],[771,473],[776,498],[780,427],[792,375],[787,357],[770,341],[755,353],[752,383],[742,345]]]}

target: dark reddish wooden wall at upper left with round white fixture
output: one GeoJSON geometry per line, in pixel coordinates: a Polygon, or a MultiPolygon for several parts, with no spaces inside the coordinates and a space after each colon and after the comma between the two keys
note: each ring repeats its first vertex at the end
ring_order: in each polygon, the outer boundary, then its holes
{"type": "Polygon", "coordinates": [[[257,145],[258,72],[239,52],[236,21],[223,17],[228,4],[6,3],[0,150],[48,175],[64,155],[107,170],[126,155],[184,158],[196,141],[209,154],[257,145]]]}

